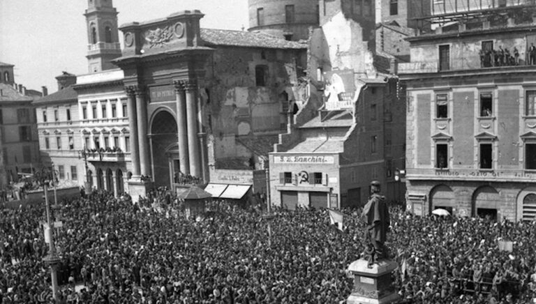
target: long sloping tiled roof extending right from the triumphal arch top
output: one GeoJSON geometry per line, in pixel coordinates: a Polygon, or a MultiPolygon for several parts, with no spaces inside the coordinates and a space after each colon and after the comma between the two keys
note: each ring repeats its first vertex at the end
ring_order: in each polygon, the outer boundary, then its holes
{"type": "Polygon", "coordinates": [[[296,41],[276,38],[265,33],[230,31],[226,29],[201,29],[201,39],[210,45],[234,47],[266,47],[270,49],[306,49],[307,45],[296,41]]]}

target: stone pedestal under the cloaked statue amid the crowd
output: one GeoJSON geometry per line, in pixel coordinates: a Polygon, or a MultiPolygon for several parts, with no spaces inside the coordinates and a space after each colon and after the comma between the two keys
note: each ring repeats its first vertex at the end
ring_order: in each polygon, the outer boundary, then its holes
{"type": "Polygon", "coordinates": [[[348,266],[354,275],[354,288],[346,300],[347,304],[382,304],[399,301],[394,289],[391,273],[398,266],[395,261],[381,260],[368,268],[368,261],[358,259],[348,266]]]}

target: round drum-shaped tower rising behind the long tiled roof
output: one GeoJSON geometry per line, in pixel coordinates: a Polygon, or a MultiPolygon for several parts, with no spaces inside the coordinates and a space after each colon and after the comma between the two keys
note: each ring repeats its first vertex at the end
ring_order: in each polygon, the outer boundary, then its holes
{"type": "Polygon", "coordinates": [[[286,40],[307,40],[318,27],[318,0],[249,0],[249,29],[286,40]]]}

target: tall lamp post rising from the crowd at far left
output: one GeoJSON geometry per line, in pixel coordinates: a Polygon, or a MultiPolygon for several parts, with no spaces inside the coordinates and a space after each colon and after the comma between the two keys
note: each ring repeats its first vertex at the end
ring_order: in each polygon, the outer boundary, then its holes
{"type": "Polygon", "coordinates": [[[38,172],[34,174],[34,180],[39,183],[40,186],[43,186],[43,193],[45,194],[45,205],[47,210],[47,225],[48,229],[45,229],[45,232],[48,234],[48,254],[46,257],[43,257],[45,264],[50,266],[50,276],[52,278],[52,296],[54,301],[57,301],[57,292],[58,292],[58,278],[57,278],[57,265],[61,260],[56,253],[56,248],[54,247],[54,239],[52,238],[52,225],[50,222],[50,204],[48,202],[48,186],[50,183],[55,183],[56,172],[54,172],[54,167],[52,169],[48,167],[43,167],[38,172]]]}

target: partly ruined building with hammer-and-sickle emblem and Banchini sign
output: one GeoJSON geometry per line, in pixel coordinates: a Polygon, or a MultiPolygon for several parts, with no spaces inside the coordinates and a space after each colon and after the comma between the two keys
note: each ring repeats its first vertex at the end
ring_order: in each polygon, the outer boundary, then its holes
{"type": "Polygon", "coordinates": [[[362,206],[375,179],[389,200],[404,166],[405,100],[375,53],[373,1],[322,1],[308,46],[304,106],[270,153],[271,202],[362,206]]]}

